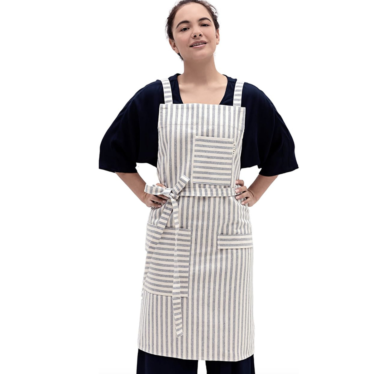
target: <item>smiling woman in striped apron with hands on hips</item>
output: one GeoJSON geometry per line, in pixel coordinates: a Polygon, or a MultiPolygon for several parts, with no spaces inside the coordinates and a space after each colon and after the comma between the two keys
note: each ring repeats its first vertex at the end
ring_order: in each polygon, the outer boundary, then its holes
{"type": "Polygon", "coordinates": [[[180,1],[167,32],[184,73],[141,88],[100,146],[150,207],[145,238],[137,374],[254,373],[252,230],[249,207],[282,173],[298,168],[294,142],[257,87],[220,74],[215,8],[180,1]],[[146,184],[137,162],[157,167],[146,184]],[[240,168],[261,171],[249,188],[240,168]]]}

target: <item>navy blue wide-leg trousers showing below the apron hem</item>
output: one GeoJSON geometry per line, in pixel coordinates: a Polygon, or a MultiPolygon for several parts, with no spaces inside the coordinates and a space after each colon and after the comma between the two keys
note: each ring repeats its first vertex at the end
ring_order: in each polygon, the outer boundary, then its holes
{"type": "MultiPolygon", "coordinates": [[[[198,362],[138,349],[137,374],[197,374],[198,362]]],[[[255,374],[253,355],[240,361],[205,361],[205,364],[207,374],[255,374]]]]}

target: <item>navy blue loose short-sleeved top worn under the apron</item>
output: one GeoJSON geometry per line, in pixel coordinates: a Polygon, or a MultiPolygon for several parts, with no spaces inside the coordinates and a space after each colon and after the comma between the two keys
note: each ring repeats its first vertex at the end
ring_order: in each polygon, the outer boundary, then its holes
{"type": "MultiPolygon", "coordinates": [[[[174,104],[183,104],[177,73],[169,77],[174,104]]],[[[226,74],[223,74],[226,76],[226,74]]],[[[221,105],[233,105],[236,79],[228,79],[221,105]]],[[[137,162],[157,167],[159,106],[165,104],[161,80],[141,88],[126,103],[100,144],[99,169],[136,173],[137,162]]],[[[257,165],[261,175],[272,176],[298,168],[295,145],[274,104],[251,83],[244,83],[245,111],[240,167],[257,165]]]]}

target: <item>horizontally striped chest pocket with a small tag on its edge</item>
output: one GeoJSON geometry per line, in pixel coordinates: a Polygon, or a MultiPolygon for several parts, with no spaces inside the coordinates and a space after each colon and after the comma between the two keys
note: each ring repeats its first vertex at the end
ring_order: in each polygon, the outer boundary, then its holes
{"type": "Polygon", "coordinates": [[[192,183],[232,185],[234,153],[234,138],[196,135],[193,142],[192,183]]]}

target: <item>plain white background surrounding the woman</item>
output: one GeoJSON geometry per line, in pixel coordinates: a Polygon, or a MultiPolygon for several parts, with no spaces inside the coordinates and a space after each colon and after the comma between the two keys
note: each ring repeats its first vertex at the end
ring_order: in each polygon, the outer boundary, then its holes
{"type": "MultiPolygon", "coordinates": [[[[217,70],[269,96],[299,165],[251,208],[256,373],[374,373],[369,1],[212,4],[217,70]]],[[[1,373],[136,373],[149,208],[99,144],[138,89],[183,73],[172,6],[1,6],[1,373]]]]}

